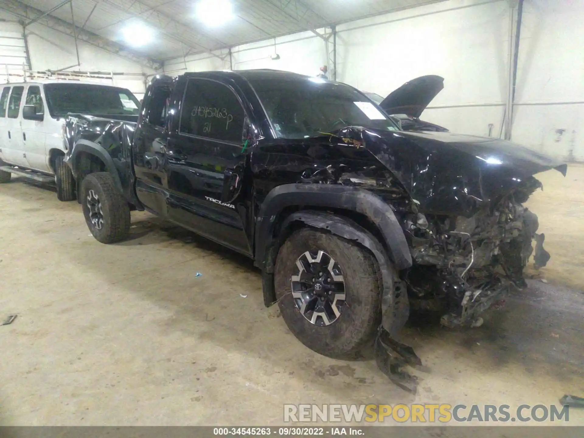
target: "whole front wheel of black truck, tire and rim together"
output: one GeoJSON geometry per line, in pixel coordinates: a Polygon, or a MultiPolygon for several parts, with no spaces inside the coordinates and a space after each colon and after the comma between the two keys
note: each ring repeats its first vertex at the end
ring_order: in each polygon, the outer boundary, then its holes
{"type": "Polygon", "coordinates": [[[274,286],[290,331],[317,353],[355,357],[381,322],[381,274],[369,252],[303,228],[281,246],[274,286]]]}

